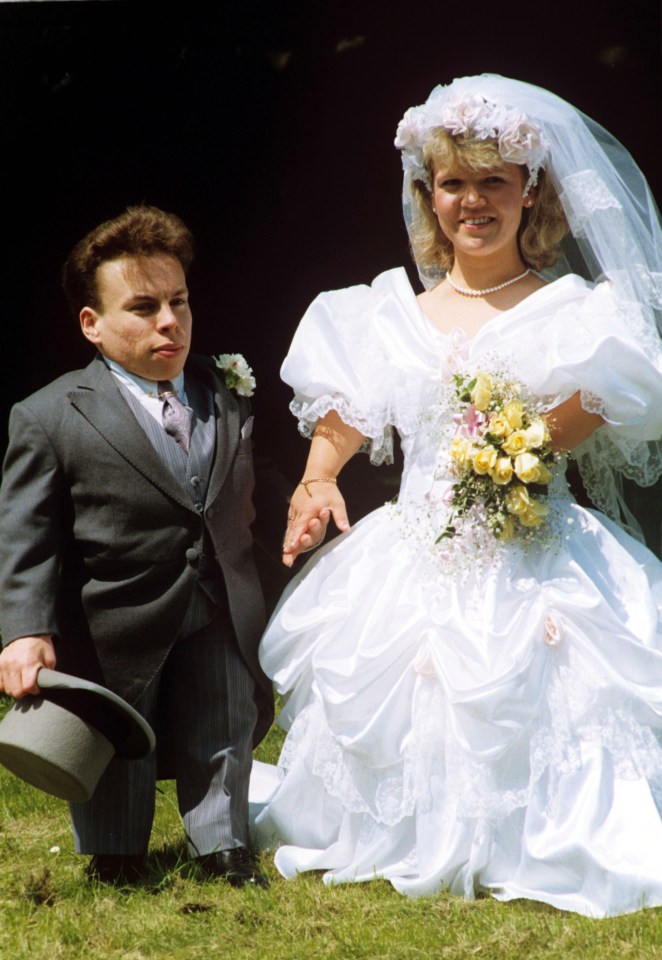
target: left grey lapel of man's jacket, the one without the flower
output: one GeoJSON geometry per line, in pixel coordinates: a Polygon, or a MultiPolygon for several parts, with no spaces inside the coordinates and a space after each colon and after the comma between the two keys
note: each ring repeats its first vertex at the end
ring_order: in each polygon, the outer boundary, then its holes
{"type": "Polygon", "coordinates": [[[184,491],[159,459],[100,357],[83,370],[78,390],[68,393],[71,405],[138,473],[177,503],[193,510],[184,491]]]}

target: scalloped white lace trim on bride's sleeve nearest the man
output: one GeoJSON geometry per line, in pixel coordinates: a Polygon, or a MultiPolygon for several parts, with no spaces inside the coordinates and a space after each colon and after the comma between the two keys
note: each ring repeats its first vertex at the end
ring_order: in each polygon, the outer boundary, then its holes
{"type": "Polygon", "coordinates": [[[379,466],[393,463],[393,427],[385,422],[383,410],[360,409],[346,397],[326,394],[315,400],[295,394],[290,410],[299,420],[299,432],[312,437],[318,420],[335,410],[343,423],[354,427],[366,438],[361,452],[370,456],[370,462],[379,466]]]}

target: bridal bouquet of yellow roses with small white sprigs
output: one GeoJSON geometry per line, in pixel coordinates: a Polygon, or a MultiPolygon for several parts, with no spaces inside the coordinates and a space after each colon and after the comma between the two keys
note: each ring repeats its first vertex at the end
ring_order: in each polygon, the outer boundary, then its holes
{"type": "Polygon", "coordinates": [[[436,542],[456,536],[469,520],[501,540],[526,536],[547,519],[541,497],[556,462],[542,412],[518,383],[487,373],[454,380],[460,410],[450,457],[458,480],[436,542]]]}

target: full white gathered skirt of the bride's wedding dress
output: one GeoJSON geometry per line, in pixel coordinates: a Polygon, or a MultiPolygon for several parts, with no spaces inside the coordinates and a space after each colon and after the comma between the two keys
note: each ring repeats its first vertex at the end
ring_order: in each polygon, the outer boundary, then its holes
{"type": "Polygon", "coordinates": [[[662,565],[566,519],[555,549],[431,576],[382,509],[291,585],[261,648],[290,729],[256,826],[285,876],[662,904],[662,565]]]}

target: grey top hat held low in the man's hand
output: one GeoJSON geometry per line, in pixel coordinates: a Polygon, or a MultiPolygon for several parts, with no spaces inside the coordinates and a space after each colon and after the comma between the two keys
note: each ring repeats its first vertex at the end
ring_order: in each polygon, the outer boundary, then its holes
{"type": "Polygon", "coordinates": [[[0,723],[0,763],[27,783],[73,802],[89,800],[114,756],[152,752],[147,721],[112,691],[42,667],[42,696],[17,700],[0,723]]]}

